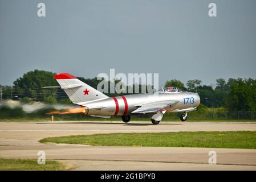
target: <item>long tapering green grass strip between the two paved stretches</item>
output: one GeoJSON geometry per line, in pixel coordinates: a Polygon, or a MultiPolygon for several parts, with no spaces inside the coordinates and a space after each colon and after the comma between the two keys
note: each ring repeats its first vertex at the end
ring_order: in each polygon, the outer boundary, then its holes
{"type": "Polygon", "coordinates": [[[39,142],[88,144],[92,146],[256,148],[256,131],[74,135],[44,138],[39,142]]]}

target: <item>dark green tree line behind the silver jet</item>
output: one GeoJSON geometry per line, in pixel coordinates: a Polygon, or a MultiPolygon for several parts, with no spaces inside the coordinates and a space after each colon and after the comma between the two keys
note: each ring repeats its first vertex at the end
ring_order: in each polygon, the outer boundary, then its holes
{"type": "MultiPolygon", "coordinates": [[[[0,85],[2,99],[69,103],[70,100],[62,89],[42,88],[44,86],[58,85],[54,78],[55,74],[37,69],[27,72],[22,77],[17,78],[13,82],[13,86],[0,85]]],[[[97,80],[96,77],[77,78],[95,89],[101,81],[97,80]]],[[[115,84],[119,81],[115,80],[115,84]]],[[[108,82],[113,84],[112,81],[108,82]]],[[[256,111],[256,79],[253,78],[229,78],[227,81],[224,78],[218,78],[215,88],[212,85],[202,85],[201,80],[188,80],[184,84],[176,79],[167,80],[164,86],[177,86],[183,91],[197,92],[201,98],[201,105],[206,107],[224,107],[234,111],[256,111]]],[[[119,96],[121,94],[113,93],[107,95],[119,96]]]]}

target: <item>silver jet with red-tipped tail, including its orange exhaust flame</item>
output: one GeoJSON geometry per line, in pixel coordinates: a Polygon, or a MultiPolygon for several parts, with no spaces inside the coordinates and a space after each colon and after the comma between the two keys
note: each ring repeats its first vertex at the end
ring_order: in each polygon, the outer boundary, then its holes
{"type": "MultiPolygon", "coordinates": [[[[55,79],[70,100],[80,105],[80,108],[75,109],[76,113],[101,118],[117,115],[125,123],[131,120],[133,114],[152,113],[151,121],[153,125],[157,125],[166,112],[182,112],[180,119],[186,121],[188,111],[196,110],[200,104],[197,93],[182,92],[177,87],[162,88],[155,93],[108,97],[68,73],[59,73],[55,75],[55,79]]],[[[71,109],[64,112],[55,111],[51,114],[75,112],[71,109]]]]}

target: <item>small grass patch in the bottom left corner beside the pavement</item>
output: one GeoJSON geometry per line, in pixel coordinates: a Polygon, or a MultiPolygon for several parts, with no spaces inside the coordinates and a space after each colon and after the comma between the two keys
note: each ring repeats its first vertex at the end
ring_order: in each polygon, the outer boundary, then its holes
{"type": "Polygon", "coordinates": [[[0,171],[55,171],[67,169],[66,164],[55,160],[46,160],[39,165],[36,159],[0,159],[0,171]]]}

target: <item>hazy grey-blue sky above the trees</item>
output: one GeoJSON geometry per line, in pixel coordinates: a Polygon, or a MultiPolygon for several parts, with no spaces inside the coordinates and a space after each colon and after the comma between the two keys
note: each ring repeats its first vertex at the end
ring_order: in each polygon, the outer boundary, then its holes
{"type": "Polygon", "coordinates": [[[256,78],[255,9],[255,0],[0,0],[0,84],[34,69],[159,73],[159,86],[256,78]],[[208,15],[211,2],[217,17],[208,15]]]}

